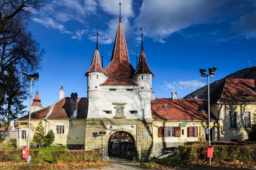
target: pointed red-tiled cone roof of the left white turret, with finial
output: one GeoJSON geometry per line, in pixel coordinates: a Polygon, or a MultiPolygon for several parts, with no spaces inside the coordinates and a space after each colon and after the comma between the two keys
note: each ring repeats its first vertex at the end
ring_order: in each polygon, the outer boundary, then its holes
{"type": "MultiPolygon", "coordinates": [[[[106,72],[104,71],[104,69],[101,66],[101,62],[100,62],[100,53],[98,51],[98,32],[97,32],[97,44],[96,44],[96,50],[94,51],[94,55],[93,55],[93,59],[92,59],[92,64],[91,67],[89,68],[89,70],[86,72],[87,73],[91,73],[91,72],[99,72],[99,73],[103,73],[105,75],[106,72]]],[[[86,75],[85,74],[85,75],[86,75]]]]}

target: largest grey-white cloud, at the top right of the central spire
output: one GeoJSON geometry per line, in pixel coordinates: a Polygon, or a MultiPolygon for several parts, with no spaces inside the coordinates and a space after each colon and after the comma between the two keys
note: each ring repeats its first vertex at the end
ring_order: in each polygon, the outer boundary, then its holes
{"type": "Polygon", "coordinates": [[[135,26],[143,26],[144,35],[154,41],[164,43],[164,38],[193,24],[213,21],[220,13],[220,8],[228,1],[221,0],[161,0],[145,1],[140,14],[135,19],[135,26]]]}

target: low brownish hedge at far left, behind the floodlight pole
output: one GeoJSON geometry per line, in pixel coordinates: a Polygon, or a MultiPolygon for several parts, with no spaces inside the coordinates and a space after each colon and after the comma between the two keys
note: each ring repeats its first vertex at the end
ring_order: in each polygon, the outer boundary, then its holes
{"type": "MultiPolygon", "coordinates": [[[[22,149],[17,150],[0,150],[0,161],[22,161],[26,160],[22,158],[22,149]]],[[[31,162],[37,162],[39,151],[33,150],[29,151],[29,154],[32,156],[31,162]]]]}

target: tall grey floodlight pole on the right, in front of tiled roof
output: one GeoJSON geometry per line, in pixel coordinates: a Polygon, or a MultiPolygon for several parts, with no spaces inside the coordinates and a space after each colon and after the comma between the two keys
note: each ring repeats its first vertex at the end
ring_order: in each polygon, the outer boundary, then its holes
{"type": "MultiPolygon", "coordinates": [[[[211,146],[211,138],[210,138],[210,86],[209,86],[209,77],[213,77],[215,74],[215,70],[217,67],[209,68],[209,73],[206,74],[205,69],[199,69],[202,77],[208,77],[208,130],[209,130],[209,146],[211,146]]],[[[209,165],[211,165],[211,158],[209,158],[209,165]]]]}

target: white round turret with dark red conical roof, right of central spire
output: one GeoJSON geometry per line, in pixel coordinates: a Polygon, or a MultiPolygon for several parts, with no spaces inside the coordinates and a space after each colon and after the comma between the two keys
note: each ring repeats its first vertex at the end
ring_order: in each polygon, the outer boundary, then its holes
{"type": "Polygon", "coordinates": [[[138,89],[138,98],[142,101],[152,99],[153,76],[154,74],[151,72],[147,65],[146,55],[143,49],[143,34],[141,34],[141,53],[139,58],[139,64],[132,77],[138,84],[140,84],[138,89]]]}

